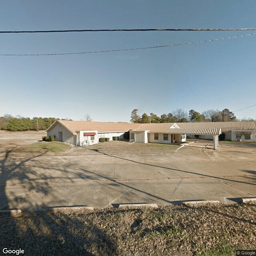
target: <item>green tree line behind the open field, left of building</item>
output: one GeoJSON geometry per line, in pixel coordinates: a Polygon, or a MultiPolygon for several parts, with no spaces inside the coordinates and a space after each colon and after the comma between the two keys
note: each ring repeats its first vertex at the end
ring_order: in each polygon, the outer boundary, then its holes
{"type": "MultiPolygon", "coordinates": [[[[29,117],[25,118],[22,116],[13,117],[9,114],[5,114],[0,117],[0,128],[1,130],[8,131],[26,131],[26,130],[46,130],[49,128],[56,120],[60,120],[59,118],[54,117],[33,117],[30,119],[29,117]]],[[[67,119],[62,119],[67,120],[67,119]]],[[[68,119],[71,120],[71,119],[68,119]]]]}

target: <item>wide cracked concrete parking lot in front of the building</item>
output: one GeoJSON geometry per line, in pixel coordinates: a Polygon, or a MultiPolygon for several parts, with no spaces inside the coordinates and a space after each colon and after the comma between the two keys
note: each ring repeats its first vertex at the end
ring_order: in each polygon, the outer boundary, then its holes
{"type": "Polygon", "coordinates": [[[230,204],[242,197],[256,196],[254,147],[225,145],[211,150],[195,144],[174,153],[31,155],[13,154],[8,147],[3,153],[1,209],[74,205],[107,208],[121,203],[169,205],[184,200],[230,204]]]}

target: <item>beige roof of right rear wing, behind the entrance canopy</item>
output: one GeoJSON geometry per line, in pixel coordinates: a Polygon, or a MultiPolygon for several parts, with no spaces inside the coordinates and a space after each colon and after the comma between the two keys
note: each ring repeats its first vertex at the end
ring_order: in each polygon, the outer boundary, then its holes
{"type": "Polygon", "coordinates": [[[256,131],[255,121],[244,122],[195,122],[195,123],[177,123],[180,128],[200,128],[200,129],[213,129],[220,128],[221,132],[230,131],[256,131]]]}

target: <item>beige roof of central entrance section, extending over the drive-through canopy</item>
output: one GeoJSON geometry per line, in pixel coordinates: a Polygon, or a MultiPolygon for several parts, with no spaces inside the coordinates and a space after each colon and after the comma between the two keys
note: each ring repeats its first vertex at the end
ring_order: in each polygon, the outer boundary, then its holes
{"type": "Polygon", "coordinates": [[[161,123],[161,124],[141,124],[134,131],[146,131],[148,133],[171,133],[171,134],[220,134],[219,128],[204,128],[204,127],[193,127],[193,123],[182,123],[188,124],[186,127],[171,128],[174,123],[161,123]]]}

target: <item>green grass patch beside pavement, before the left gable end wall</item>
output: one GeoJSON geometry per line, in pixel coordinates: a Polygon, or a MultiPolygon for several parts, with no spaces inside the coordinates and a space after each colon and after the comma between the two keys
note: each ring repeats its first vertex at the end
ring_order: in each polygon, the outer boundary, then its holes
{"type": "Polygon", "coordinates": [[[64,152],[68,150],[70,146],[64,145],[60,142],[38,142],[32,145],[17,148],[14,152],[64,152]]]}

